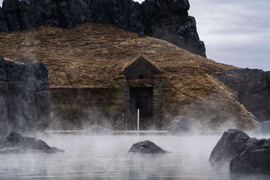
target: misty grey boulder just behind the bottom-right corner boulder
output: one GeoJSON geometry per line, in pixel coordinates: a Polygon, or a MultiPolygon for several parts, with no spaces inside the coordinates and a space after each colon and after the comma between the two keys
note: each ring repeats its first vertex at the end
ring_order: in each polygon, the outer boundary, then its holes
{"type": "Polygon", "coordinates": [[[211,163],[230,162],[235,154],[241,152],[249,141],[253,141],[246,133],[240,130],[228,130],[215,145],[210,154],[211,163]]]}

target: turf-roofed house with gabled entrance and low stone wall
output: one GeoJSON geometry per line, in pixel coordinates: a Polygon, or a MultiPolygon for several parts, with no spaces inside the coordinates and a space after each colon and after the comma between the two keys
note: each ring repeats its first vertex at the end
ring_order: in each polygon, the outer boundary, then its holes
{"type": "MultiPolygon", "coordinates": [[[[107,72],[99,75],[102,73],[107,72]]],[[[139,109],[141,130],[162,129],[164,70],[147,57],[138,56],[123,64],[111,80],[113,86],[107,88],[52,87],[53,126],[81,129],[85,124],[109,121],[114,130],[137,130],[139,109]]]]}

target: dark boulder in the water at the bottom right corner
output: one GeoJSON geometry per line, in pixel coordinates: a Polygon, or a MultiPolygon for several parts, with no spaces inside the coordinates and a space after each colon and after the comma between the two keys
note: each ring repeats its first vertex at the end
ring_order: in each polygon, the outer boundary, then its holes
{"type": "Polygon", "coordinates": [[[257,140],[233,157],[230,171],[237,174],[270,174],[270,139],[257,140]]]}

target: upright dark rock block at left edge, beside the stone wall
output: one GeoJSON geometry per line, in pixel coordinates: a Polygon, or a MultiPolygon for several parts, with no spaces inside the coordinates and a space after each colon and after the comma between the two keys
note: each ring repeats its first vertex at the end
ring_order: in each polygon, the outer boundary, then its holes
{"type": "Polygon", "coordinates": [[[0,60],[0,132],[43,131],[50,122],[47,67],[26,59],[0,60]]]}

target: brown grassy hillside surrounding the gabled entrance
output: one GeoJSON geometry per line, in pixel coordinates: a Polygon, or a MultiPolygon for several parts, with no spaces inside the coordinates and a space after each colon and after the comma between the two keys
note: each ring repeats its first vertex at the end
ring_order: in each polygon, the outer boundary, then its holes
{"type": "Polygon", "coordinates": [[[114,26],[86,24],[73,29],[42,27],[0,33],[0,54],[44,62],[50,87],[113,87],[125,62],[148,57],[167,76],[165,96],[169,116],[184,114],[199,128],[251,129],[258,124],[237,101],[235,91],[216,78],[237,67],[219,64],[156,38],[114,26]]]}

